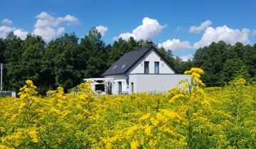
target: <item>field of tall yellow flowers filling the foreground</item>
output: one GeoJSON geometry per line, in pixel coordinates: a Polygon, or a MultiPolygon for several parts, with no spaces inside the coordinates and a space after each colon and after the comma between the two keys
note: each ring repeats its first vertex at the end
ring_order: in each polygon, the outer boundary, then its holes
{"type": "Polygon", "coordinates": [[[206,88],[203,70],[185,73],[154,95],[97,96],[82,83],[43,97],[27,80],[19,98],[0,99],[0,148],[255,148],[255,82],[206,88]]]}

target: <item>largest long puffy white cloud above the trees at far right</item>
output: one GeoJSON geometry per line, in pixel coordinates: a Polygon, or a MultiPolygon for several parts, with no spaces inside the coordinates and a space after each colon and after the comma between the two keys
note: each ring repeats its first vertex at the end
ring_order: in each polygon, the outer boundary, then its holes
{"type": "Polygon", "coordinates": [[[249,44],[249,34],[250,30],[247,28],[243,28],[240,31],[239,29],[228,28],[228,26],[219,26],[217,28],[208,27],[205,33],[203,33],[201,40],[195,43],[193,47],[201,48],[210,45],[212,42],[219,42],[220,40],[231,45],[235,45],[237,42],[249,44]]]}

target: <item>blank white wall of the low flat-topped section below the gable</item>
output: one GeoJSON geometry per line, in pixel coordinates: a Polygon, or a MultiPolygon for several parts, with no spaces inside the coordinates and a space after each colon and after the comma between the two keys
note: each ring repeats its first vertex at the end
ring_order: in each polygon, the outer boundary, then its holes
{"type": "Polygon", "coordinates": [[[129,82],[134,82],[134,92],[167,92],[178,85],[178,80],[190,80],[191,75],[129,75],[129,82]]]}

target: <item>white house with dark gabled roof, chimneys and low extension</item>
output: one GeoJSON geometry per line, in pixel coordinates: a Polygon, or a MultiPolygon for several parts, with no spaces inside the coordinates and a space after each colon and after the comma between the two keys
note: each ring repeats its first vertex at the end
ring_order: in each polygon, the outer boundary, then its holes
{"type": "Polygon", "coordinates": [[[177,86],[178,80],[189,78],[189,75],[177,74],[150,40],[146,49],[139,45],[136,51],[123,55],[102,76],[112,80],[105,85],[107,94],[167,92],[177,86]]]}

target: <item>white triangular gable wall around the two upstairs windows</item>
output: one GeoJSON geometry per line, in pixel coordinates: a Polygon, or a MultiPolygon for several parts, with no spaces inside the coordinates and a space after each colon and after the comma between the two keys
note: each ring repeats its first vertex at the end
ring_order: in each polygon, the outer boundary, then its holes
{"type": "Polygon", "coordinates": [[[142,60],[137,62],[128,74],[144,74],[144,61],[149,61],[149,74],[154,74],[154,62],[159,62],[159,74],[174,74],[174,70],[172,70],[154,50],[149,51],[142,60]]]}

